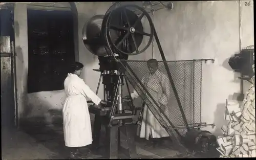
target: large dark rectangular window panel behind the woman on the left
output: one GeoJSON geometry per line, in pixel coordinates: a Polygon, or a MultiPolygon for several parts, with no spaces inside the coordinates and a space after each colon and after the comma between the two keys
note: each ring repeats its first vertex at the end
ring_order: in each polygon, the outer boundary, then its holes
{"type": "Polygon", "coordinates": [[[71,11],[28,9],[28,93],[64,89],[75,61],[71,11]]]}

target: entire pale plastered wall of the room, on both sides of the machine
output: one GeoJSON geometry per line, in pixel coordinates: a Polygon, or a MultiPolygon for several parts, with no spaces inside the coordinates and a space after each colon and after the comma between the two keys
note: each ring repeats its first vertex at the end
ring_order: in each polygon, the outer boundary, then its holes
{"type": "MultiPolygon", "coordinates": [[[[86,21],[93,15],[104,14],[111,6],[111,2],[77,2],[76,6],[79,61],[84,64],[81,78],[96,91],[99,73],[92,69],[99,68],[98,58],[84,47],[81,32],[86,21]]],[[[246,47],[254,44],[253,6],[252,2],[251,6],[244,6],[244,3],[242,6],[241,42],[242,47],[246,47]]],[[[49,108],[61,109],[65,93],[60,90],[28,94],[28,101],[26,100],[28,67],[26,5],[18,4],[18,8],[15,9],[15,21],[19,24],[19,28],[15,27],[16,32],[19,30],[19,36],[16,35],[16,49],[22,48],[22,53],[18,55],[17,52],[17,79],[21,80],[17,81],[19,117],[25,112],[25,108],[29,110],[26,116],[47,115],[49,108]]],[[[240,91],[239,81],[236,80],[238,75],[234,74],[227,64],[229,57],[239,52],[238,9],[238,1],[195,1],[174,2],[172,11],[163,9],[154,13],[154,25],[167,60],[216,59],[214,64],[203,63],[202,81],[202,121],[217,125],[214,129],[210,127],[204,129],[216,134],[221,133],[220,127],[224,124],[225,99],[240,91]]],[[[154,58],[161,60],[156,46],[154,42],[154,58]]],[[[151,47],[145,53],[130,57],[141,60],[149,58],[152,58],[151,47]]],[[[102,90],[101,86],[100,98],[103,96],[102,90]]]]}

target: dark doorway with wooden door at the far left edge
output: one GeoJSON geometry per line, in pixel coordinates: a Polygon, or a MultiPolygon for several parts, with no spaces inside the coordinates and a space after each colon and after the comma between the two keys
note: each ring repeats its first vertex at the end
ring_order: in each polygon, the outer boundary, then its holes
{"type": "Polygon", "coordinates": [[[15,56],[13,8],[0,10],[1,31],[1,125],[2,130],[13,129],[17,124],[15,109],[15,56]]]}

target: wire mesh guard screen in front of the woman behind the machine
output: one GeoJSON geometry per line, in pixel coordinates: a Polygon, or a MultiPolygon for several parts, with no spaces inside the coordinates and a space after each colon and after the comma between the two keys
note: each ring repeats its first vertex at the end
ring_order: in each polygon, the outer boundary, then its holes
{"type": "Polygon", "coordinates": [[[186,127],[201,123],[202,61],[165,62],[174,86],[170,85],[163,61],[155,61],[154,70],[148,61],[120,60],[119,68],[161,126],[184,136],[186,127]]]}

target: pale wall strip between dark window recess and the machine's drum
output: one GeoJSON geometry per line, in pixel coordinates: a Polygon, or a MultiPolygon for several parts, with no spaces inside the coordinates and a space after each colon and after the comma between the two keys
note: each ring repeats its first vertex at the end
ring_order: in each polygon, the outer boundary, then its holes
{"type": "MultiPolygon", "coordinates": [[[[104,15],[105,12],[111,6],[111,2],[76,2],[78,12],[78,38],[79,38],[79,62],[83,63],[84,68],[82,70],[81,78],[96,92],[100,72],[93,71],[93,69],[99,69],[98,57],[93,55],[84,46],[82,41],[82,28],[86,22],[97,14],[104,15]]],[[[103,87],[102,84],[99,87],[98,96],[103,98],[103,87]]]]}

